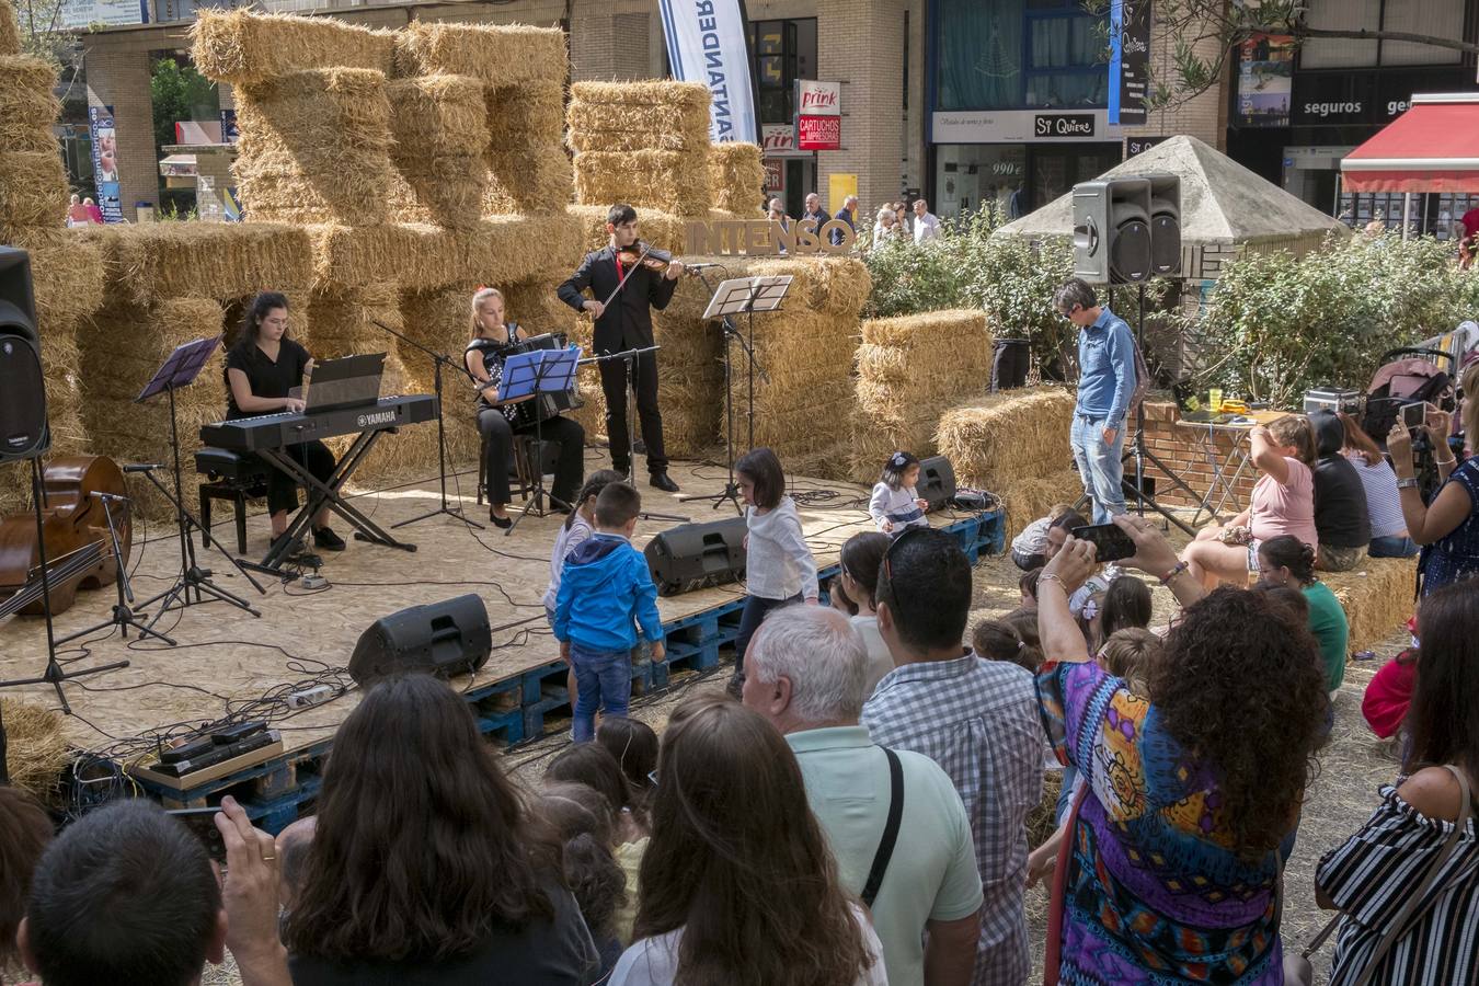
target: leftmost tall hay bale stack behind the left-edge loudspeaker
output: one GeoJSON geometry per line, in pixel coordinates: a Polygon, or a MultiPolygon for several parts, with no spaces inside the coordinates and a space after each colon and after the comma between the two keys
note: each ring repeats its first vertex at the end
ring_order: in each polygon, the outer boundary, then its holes
{"type": "MultiPolygon", "coordinates": [[[[0,242],[30,253],[35,321],[46,373],[52,454],[89,449],[81,420],[77,322],[102,305],[102,262],[96,247],[64,228],[67,173],[52,124],[56,71],[21,55],[9,0],[0,0],[0,242]]],[[[30,503],[28,472],[0,475],[0,513],[30,503]]]]}

